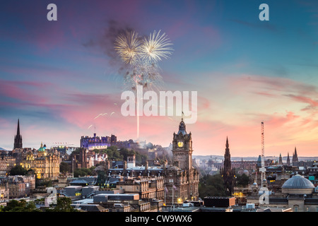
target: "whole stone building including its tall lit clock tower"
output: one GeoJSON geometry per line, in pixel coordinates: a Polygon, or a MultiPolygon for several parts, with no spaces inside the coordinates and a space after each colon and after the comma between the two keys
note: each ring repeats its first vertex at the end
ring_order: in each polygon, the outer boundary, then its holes
{"type": "Polygon", "coordinates": [[[166,203],[183,203],[199,197],[199,172],[192,166],[192,133],[183,119],[173,133],[172,165],[164,166],[166,203]]]}

